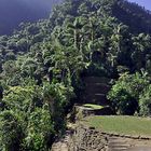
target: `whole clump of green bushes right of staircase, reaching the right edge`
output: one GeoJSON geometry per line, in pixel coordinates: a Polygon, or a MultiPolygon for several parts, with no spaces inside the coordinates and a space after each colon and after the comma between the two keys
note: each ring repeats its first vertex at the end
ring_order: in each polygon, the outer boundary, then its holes
{"type": "Polygon", "coordinates": [[[147,72],[121,74],[108,94],[118,114],[151,114],[150,77],[147,72]]]}

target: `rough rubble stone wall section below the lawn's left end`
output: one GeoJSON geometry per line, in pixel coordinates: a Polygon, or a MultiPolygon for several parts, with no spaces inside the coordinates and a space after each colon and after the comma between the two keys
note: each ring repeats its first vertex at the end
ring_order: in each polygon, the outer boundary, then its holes
{"type": "Polygon", "coordinates": [[[107,137],[91,127],[79,125],[68,141],[69,151],[106,151],[107,137]]]}

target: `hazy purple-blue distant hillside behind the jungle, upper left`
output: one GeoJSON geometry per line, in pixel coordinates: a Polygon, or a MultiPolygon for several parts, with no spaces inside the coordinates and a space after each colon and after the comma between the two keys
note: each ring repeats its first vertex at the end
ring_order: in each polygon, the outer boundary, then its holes
{"type": "Polygon", "coordinates": [[[0,0],[0,35],[12,33],[20,22],[47,18],[59,0],[0,0]]]}

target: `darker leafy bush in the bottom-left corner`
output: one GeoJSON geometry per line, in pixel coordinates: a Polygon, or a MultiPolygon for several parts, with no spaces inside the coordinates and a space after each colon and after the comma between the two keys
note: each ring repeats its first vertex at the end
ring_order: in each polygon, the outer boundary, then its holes
{"type": "Polygon", "coordinates": [[[0,115],[0,150],[19,151],[24,131],[19,115],[12,110],[3,111],[0,115]]]}

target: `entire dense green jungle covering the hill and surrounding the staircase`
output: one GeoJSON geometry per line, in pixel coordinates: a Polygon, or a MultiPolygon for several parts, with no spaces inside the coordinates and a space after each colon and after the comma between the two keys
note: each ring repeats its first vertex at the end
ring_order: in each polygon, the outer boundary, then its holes
{"type": "Polygon", "coordinates": [[[125,0],[65,0],[49,19],[1,36],[0,150],[49,151],[82,101],[84,76],[113,79],[116,113],[150,115],[150,23],[125,0]]]}

